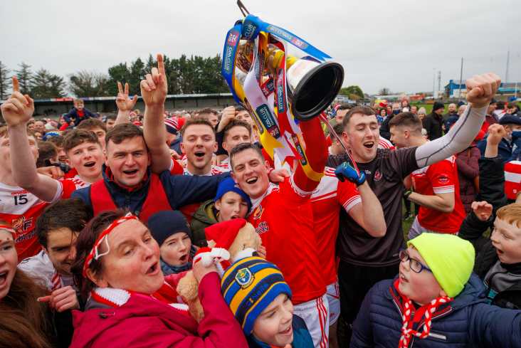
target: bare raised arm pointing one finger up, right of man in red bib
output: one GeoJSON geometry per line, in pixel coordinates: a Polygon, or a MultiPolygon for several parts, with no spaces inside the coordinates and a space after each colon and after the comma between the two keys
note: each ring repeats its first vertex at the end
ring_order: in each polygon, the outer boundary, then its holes
{"type": "Polygon", "coordinates": [[[161,173],[172,165],[170,149],[167,145],[167,130],[164,127],[164,100],[167,99],[167,75],[164,61],[157,55],[157,68],[141,81],[141,95],[144,101],[144,141],[152,156],[152,172],[161,173]]]}

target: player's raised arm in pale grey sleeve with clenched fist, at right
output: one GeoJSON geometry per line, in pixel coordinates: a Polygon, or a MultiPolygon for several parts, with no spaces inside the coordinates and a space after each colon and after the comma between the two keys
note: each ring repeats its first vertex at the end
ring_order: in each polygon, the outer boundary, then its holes
{"type": "Polygon", "coordinates": [[[480,131],[488,104],[500,83],[499,76],[494,73],[476,75],[466,81],[469,106],[446,135],[416,149],[419,167],[439,162],[468,147],[480,131]]]}

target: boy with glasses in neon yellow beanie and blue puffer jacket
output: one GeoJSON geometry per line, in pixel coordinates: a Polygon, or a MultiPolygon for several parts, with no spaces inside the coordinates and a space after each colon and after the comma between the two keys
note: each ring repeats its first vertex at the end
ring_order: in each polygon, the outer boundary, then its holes
{"type": "Polygon", "coordinates": [[[398,277],[367,293],[350,347],[521,347],[521,311],[485,302],[472,244],[422,233],[407,246],[398,277]]]}

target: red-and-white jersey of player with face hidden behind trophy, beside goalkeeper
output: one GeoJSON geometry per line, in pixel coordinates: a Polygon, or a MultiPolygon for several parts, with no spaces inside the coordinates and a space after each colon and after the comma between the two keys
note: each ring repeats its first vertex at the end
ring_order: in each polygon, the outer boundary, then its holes
{"type": "Polygon", "coordinates": [[[315,237],[317,238],[318,259],[326,284],[337,280],[335,246],[340,223],[340,207],[347,213],[362,203],[357,186],[350,181],[340,181],[335,169],[326,167],[325,176],[311,195],[315,237]]]}

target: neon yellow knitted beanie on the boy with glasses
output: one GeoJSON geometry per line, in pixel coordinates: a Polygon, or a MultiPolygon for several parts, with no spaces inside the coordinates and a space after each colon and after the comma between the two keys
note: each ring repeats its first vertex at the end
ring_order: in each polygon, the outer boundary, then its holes
{"type": "Polygon", "coordinates": [[[421,233],[407,242],[414,246],[431,268],[443,291],[456,297],[470,278],[475,251],[469,241],[451,234],[421,233]]]}

